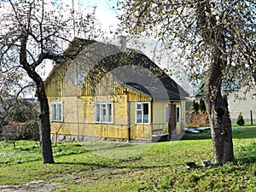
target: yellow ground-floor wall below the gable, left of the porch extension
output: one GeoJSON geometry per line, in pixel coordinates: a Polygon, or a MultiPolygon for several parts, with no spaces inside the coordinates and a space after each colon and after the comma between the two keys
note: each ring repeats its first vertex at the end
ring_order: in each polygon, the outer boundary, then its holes
{"type": "MultiPolygon", "coordinates": [[[[59,101],[52,97],[49,102],[59,101]]],[[[86,137],[128,137],[126,96],[63,96],[63,122],[51,122],[52,134],[86,137]],[[113,124],[95,123],[95,101],[113,102],[113,124]]],[[[51,117],[50,117],[51,118],[51,117]]]]}

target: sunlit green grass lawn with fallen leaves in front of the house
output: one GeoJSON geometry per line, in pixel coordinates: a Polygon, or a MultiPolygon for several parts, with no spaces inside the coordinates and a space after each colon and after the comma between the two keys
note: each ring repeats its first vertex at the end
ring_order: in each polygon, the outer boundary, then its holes
{"type": "Polygon", "coordinates": [[[54,165],[42,164],[35,142],[19,141],[16,149],[2,142],[0,185],[44,180],[61,183],[55,191],[255,191],[256,126],[234,128],[236,161],[224,166],[201,166],[213,160],[204,134],[165,143],[58,143],[54,165]],[[188,170],[189,161],[198,167],[188,170]]]}

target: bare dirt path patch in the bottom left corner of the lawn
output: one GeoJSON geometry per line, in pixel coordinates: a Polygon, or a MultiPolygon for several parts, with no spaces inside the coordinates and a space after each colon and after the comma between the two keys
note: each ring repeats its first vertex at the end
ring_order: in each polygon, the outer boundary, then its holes
{"type": "Polygon", "coordinates": [[[61,183],[49,183],[44,180],[35,180],[25,184],[0,185],[1,192],[50,192],[63,188],[61,183]]]}

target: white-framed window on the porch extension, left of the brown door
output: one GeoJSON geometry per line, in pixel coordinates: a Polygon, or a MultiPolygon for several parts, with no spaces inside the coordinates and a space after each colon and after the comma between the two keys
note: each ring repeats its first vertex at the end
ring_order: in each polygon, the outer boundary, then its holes
{"type": "Polygon", "coordinates": [[[136,103],[136,123],[149,124],[149,102],[136,103]]]}

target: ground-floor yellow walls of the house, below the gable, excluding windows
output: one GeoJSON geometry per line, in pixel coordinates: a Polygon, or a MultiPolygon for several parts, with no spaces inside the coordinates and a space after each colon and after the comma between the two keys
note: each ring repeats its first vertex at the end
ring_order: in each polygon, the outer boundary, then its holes
{"type": "MultiPolygon", "coordinates": [[[[49,106],[51,102],[62,102],[63,122],[51,122],[51,133],[58,135],[73,135],[86,137],[103,137],[103,138],[128,138],[128,126],[130,125],[131,139],[150,139],[151,129],[162,129],[163,133],[168,133],[166,124],[166,105],[170,102],[153,102],[152,114],[153,124],[137,125],[136,124],[136,102],[149,102],[150,98],[146,96],[133,95],[130,91],[127,95],[120,96],[62,96],[49,97],[49,106]],[[128,97],[135,101],[128,103],[128,97]],[[94,103],[95,101],[113,102],[113,124],[97,124],[94,120],[94,103]],[[128,112],[128,106],[130,112],[128,112]],[[127,114],[130,113],[128,119],[127,114]],[[129,124],[128,124],[129,120],[129,124]]],[[[181,106],[183,119],[184,106],[183,102],[174,102],[181,106]]],[[[50,116],[51,118],[51,116],[50,116]]],[[[183,124],[177,124],[177,132],[183,124]]]]}

